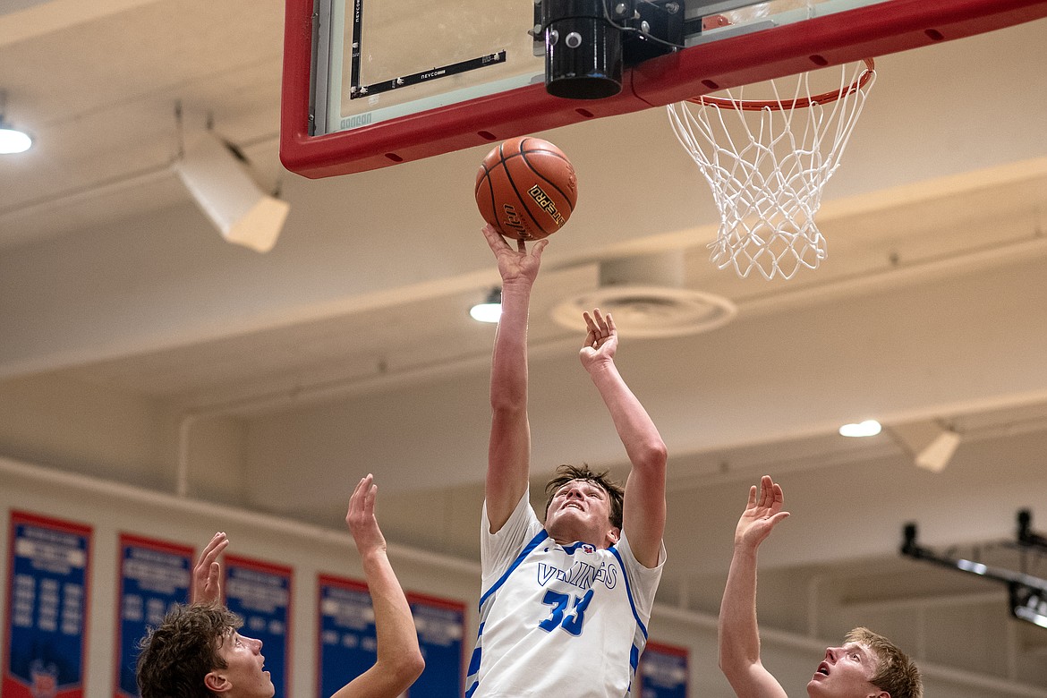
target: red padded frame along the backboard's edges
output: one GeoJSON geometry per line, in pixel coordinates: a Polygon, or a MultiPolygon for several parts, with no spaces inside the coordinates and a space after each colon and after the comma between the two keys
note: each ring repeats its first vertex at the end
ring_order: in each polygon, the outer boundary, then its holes
{"type": "Polygon", "coordinates": [[[287,0],[280,157],[319,179],[377,170],[603,116],[661,107],[814,68],[931,46],[1047,17],[1047,0],[889,0],[699,44],[626,70],[605,99],[529,85],[370,126],[310,136],[314,0],[287,0]]]}

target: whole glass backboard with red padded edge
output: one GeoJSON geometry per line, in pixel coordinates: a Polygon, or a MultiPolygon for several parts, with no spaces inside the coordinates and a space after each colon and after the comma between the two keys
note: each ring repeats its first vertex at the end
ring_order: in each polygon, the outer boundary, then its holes
{"type": "Polygon", "coordinates": [[[364,172],[1047,17],[1047,0],[596,1],[633,43],[617,93],[570,98],[547,91],[547,20],[584,0],[287,0],[284,166],[364,172]]]}

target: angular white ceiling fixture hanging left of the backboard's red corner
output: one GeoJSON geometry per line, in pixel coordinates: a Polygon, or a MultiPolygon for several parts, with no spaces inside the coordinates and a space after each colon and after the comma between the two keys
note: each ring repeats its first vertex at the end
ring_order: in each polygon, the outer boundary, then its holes
{"type": "Polygon", "coordinates": [[[291,204],[263,192],[230,147],[211,131],[175,162],[200,209],[227,242],[268,252],[291,204]]]}

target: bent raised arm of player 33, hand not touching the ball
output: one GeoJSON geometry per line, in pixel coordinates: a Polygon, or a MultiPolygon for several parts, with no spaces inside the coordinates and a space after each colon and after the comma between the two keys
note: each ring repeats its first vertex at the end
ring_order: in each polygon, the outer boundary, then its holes
{"type": "Polygon", "coordinates": [[[665,443],[615,365],[615,319],[599,309],[584,317],[588,333],[579,356],[610,412],[631,464],[625,481],[622,527],[640,564],[655,567],[665,532],[665,443]]]}

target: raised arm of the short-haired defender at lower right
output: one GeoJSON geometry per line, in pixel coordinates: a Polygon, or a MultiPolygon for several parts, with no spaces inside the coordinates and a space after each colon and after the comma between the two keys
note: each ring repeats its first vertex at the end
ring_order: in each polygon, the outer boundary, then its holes
{"type": "Polygon", "coordinates": [[[734,555],[720,602],[719,667],[738,698],[785,698],[785,691],[760,661],[756,623],[756,553],[783,521],[782,489],[770,476],[749,490],[749,504],[734,532],[734,555]]]}

